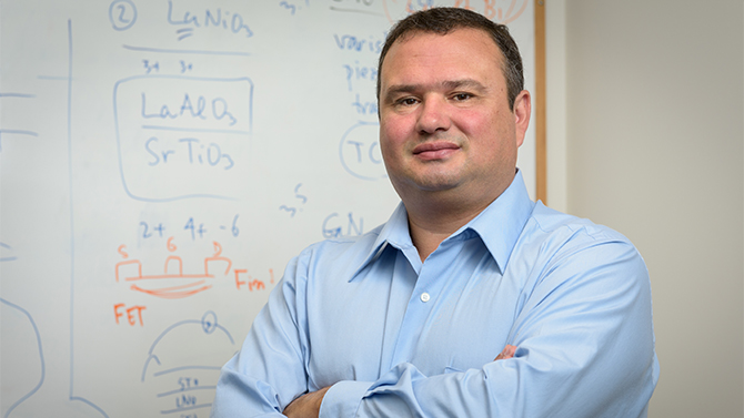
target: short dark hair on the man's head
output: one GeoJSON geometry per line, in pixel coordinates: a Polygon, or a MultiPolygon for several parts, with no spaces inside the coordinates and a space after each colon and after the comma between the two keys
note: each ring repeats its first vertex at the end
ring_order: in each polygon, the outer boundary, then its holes
{"type": "Polygon", "coordinates": [[[398,22],[388,33],[385,44],[378,63],[378,101],[380,101],[382,62],[396,40],[414,35],[418,32],[448,34],[455,29],[480,29],[491,35],[504,55],[502,72],[509,89],[509,108],[514,109],[516,95],[524,89],[522,57],[516,42],[504,24],[494,23],[482,14],[460,8],[432,8],[415,12],[398,22]]]}

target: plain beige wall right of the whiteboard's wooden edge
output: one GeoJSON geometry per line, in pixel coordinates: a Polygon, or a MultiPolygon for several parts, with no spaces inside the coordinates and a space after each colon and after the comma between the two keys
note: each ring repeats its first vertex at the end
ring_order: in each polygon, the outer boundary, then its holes
{"type": "Polygon", "coordinates": [[[546,8],[549,80],[565,81],[564,96],[547,91],[547,111],[566,114],[565,126],[549,116],[547,146],[557,147],[549,172],[566,173],[565,187],[549,179],[549,191],[644,255],[662,367],[650,417],[744,415],[742,9],[737,0],[546,8]],[[565,49],[564,61],[551,45],[565,49]]]}

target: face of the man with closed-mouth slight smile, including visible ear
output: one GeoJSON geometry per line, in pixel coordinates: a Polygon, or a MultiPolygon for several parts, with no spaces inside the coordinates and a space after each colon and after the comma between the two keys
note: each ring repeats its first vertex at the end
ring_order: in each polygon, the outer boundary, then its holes
{"type": "Polygon", "coordinates": [[[512,112],[502,60],[490,35],[475,29],[415,33],[390,48],[381,69],[380,146],[401,197],[458,191],[493,200],[511,184],[530,95],[520,93],[512,112]]]}

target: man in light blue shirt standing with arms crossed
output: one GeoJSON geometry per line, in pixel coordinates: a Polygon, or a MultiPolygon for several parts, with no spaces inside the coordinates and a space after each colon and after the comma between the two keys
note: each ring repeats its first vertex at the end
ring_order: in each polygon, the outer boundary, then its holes
{"type": "Polygon", "coordinates": [[[622,235],[530,201],[506,28],[431,9],[389,34],[380,146],[402,204],[290,262],[213,417],[645,417],[651,289],[622,235]],[[501,353],[501,354],[500,354],[501,353]]]}

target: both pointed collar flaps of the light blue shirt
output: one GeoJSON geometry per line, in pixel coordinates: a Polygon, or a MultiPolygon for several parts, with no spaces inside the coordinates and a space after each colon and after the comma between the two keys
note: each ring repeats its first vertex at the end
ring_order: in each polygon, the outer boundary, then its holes
{"type": "MultiPolygon", "coordinates": [[[[462,238],[461,235],[470,234],[471,231],[476,233],[503,273],[533,207],[534,202],[530,200],[522,172],[517,170],[512,184],[495,201],[445,241],[462,238]]],[[[379,258],[388,245],[404,253],[416,251],[411,241],[408,212],[402,202],[380,230],[370,253],[351,279],[379,258]]]]}

